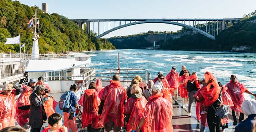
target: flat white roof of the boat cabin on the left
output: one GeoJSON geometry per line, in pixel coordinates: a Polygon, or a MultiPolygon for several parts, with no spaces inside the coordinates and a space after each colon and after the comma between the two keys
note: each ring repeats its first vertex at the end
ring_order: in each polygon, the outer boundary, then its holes
{"type": "Polygon", "coordinates": [[[87,61],[76,61],[71,59],[53,59],[53,60],[29,60],[26,72],[51,72],[62,71],[73,67],[87,64],[87,61]]]}

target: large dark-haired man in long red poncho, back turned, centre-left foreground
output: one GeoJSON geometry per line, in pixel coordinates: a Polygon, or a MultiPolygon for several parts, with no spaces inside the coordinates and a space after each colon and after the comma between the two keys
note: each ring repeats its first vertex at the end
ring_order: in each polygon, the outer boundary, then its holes
{"type": "Polygon", "coordinates": [[[127,95],[117,74],[113,76],[110,85],[106,86],[101,94],[98,112],[100,114],[100,124],[104,125],[104,131],[109,132],[113,127],[114,132],[118,132],[124,122],[124,103],[127,95]]]}

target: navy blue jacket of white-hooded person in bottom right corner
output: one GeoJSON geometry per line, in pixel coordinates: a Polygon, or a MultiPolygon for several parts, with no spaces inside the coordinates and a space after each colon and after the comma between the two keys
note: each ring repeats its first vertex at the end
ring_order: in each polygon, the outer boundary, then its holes
{"type": "Polygon", "coordinates": [[[235,132],[252,132],[256,114],[248,115],[247,119],[236,126],[235,132]]]}

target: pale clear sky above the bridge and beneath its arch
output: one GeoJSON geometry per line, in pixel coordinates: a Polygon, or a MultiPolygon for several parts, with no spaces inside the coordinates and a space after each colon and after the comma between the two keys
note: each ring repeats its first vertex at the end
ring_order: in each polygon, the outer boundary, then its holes
{"type": "MultiPolygon", "coordinates": [[[[19,0],[29,6],[48,4],[49,13],[69,19],[239,18],[256,10],[256,0],[19,0]]],[[[152,31],[177,31],[170,24],[139,24],[103,38],[152,31]]]]}

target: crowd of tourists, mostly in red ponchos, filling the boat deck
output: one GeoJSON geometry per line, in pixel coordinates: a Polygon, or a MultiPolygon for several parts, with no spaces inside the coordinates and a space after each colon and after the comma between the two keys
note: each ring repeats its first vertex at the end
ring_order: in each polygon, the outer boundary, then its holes
{"type": "Polygon", "coordinates": [[[136,75],[126,89],[115,74],[104,88],[100,79],[91,82],[80,99],[76,95],[79,87],[73,84],[59,102],[49,95],[51,88],[43,82],[43,77],[37,81],[30,79],[28,85],[21,88],[5,84],[0,92],[0,132],[24,132],[28,128],[31,132],[77,132],[79,111],[83,128],[88,132],[98,128],[104,128],[104,132],[118,132],[123,126],[127,132],[172,132],[173,105],[179,106],[178,95],[182,98],[182,109],[187,108],[188,117],[192,117],[195,103],[193,116],[200,121],[201,132],[205,127],[210,132],[225,131],[229,122],[226,108],[232,110],[236,132],[256,132],[256,100],[245,99],[244,92],[254,97],[256,94],[237,81],[235,75],[230,76],[225,86],[208,71],[204,76],[199,79],[196,72],[190,74],[185,66],[179,74],[176,67],[172,67],[166,76],[159,71],[147,84],[136,75]],[[20,96],[15,100],[17,95],[20,96]],[[58,103],[63,110],[64,123],[55,111],[58,103]],[[21,128],[15,127],[15,120],[21,128]],[[42,128],[47,122],[49,127],[42,128]]]}

